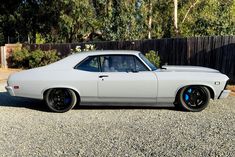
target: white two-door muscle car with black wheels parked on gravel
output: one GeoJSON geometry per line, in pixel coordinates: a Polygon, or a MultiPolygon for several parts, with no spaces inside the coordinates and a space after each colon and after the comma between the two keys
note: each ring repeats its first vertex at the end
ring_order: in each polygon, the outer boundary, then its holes
{"type": "Polygon", "coordinates": [[[180,105],[201,111],[210,98],[229,95],[228,77],[194,66],[157,69],[138,51],[94,51],[70,55],[53,64],[12,74],[12,96],[44,99],[54,112],[77,103],[180,105]]]}

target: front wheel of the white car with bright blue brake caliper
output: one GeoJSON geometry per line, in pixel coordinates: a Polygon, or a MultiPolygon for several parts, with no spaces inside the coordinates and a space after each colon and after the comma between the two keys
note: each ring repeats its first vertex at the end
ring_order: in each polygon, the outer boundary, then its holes
{"type": "Polygon", "coordinates": [[[186,86],[179,94],[180,105],[191,112],[204,110],[210,101],[210,91],[204,86],[186,86]]]}

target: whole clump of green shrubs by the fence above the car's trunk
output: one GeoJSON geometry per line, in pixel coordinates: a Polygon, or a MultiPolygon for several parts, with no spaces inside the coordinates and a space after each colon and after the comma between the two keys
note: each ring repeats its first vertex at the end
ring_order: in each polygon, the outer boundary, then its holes
{"type": "Polygon", "coordinates": [[[37,49],[29,52],[28,49],[23,48],[16,50],[11,56],[13,67],[26,69],[48,65],[58,60],[59,56],[55,50],[42,51],[37,49]]]}

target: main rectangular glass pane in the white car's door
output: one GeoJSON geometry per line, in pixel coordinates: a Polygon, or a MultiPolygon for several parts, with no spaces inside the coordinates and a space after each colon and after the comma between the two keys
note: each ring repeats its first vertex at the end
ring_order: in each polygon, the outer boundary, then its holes
{"type": "Polygon", "coordinates": [[[100,62],[103,72],[130,72],[135,70],[134,57],[129,55],[101,56],[100,62]]]}

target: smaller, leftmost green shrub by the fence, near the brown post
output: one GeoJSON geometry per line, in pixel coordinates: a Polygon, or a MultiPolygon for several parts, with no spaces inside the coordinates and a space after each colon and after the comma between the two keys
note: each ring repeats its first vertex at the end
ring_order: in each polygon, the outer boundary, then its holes
{"type": "Polygon", "coordinates": [[[29,56],[30,56],[30,53],[29,53],[28,49],[26,49],[26,48],[15,50],[11,56],[11,63],[12,63],[11,66],[16,67],[16,68],[28,67],[29,56]]]}

